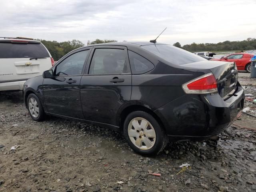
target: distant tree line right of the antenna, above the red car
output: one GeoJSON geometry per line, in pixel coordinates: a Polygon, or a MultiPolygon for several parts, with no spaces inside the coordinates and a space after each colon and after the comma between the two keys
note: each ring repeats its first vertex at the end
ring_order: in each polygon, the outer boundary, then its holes
{"type": "Polygon", "coordinates": [[[256,50],[256,38],[247,38],[243,41],[224,41],[219,43],[192,43],[181,46],[179,42],[173,44],[178,48],[190,52],[198,51],[232,51],[232,50],[256,50]]]}

